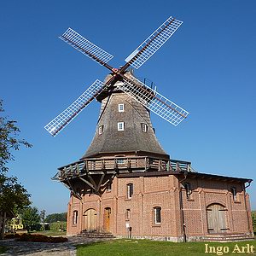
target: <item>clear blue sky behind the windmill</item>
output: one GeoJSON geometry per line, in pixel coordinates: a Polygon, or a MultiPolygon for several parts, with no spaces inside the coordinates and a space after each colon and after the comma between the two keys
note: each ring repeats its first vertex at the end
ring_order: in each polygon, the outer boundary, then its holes
{"type": "Polygon", "coordinates": [[[190,114],[177,127],[152,114],[156,135],[172,159],[189,160],[198,172],[253,178],[247,191],[256,209],[255,1],[1,1],[0,98],[33,144],[15,152],[9,173],[39,210],[67,211],[69,192],[50,177],[84,154],[100,104],[57,137],[44,125],[108,74],[58,36],[72,27],[119,67],[170,15],[183,25],[136,75],[190,114]]]}

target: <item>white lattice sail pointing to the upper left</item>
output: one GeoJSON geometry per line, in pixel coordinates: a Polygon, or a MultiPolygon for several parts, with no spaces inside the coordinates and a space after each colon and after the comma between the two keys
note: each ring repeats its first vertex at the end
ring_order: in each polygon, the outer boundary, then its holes
{"type": "Polygon", "coordinates": [[[89,58],[92,58],[94,61],[100,63],[101,65],[103,63],[107,63],[113,58],[113,55],[96,46],[96,44],[92,44],[89,40],[82,37],[78,32],[75,32],[70,27],[67,28],[67,31],[64,32],[59,38],[61,38],[61,40],[67,44],[71,45],[74,49],[79,50],[79,52],[89,58]]]}

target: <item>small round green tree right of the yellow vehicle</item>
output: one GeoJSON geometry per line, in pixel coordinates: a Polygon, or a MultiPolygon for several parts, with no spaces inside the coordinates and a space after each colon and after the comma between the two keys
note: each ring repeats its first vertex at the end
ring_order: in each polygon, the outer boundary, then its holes
{"type": "Polygon", "coordinates": [[[20,214],[22,223],[27,231],[39,227],[40,229],[40,216],[37,207],[26,207],[20,214]]]}

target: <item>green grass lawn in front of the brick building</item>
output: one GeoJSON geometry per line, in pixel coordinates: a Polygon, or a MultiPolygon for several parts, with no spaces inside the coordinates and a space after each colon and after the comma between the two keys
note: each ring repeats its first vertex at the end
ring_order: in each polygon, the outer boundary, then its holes
{"type": "MultiPolygon", "coordinates": [[[[171,241],[148,241],[148,240],[128,240],[119,239],[103,241],[77,246],[77,256],[82,255],[178,255],[178,256],[198,256],[198,255],[222,255],[217,247],[228,247],[229,253],[223,255],[256,255],[256,241],[237,241],[237,242],[171,242],[171,241]],[[209,247],[216,247],[216,253],[206,253],[206,244],[209,247]],[[236,246],[237,244],[237,246],[236,246]],[[242,246],[253,246],[254,253],[238,253],[242,246]],[[232,253],[236,247],[236,253],[232,253]],[[238,247],[238,249],[237,249],[238,247]]],[[[220,250],[220,248],[218,248],[220,250]]],[[[209,252],[209,251],[208,251],[209,252]]]]}

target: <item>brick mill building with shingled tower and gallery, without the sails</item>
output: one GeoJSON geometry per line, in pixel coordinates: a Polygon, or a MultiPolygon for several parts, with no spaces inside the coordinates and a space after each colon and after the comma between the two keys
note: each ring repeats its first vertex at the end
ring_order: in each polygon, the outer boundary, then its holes
{"type": "Polygon", "coordinates": [[[97,98],[102,107],[90,147],[55,176],[71,190],[67,235],[253,237],[246,193],[252,180],[194,172],[190,162],[172,160],[155,137],[148,109],[114,88],[97,98]]]}

